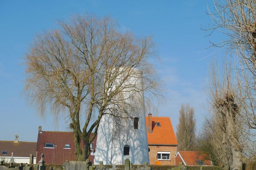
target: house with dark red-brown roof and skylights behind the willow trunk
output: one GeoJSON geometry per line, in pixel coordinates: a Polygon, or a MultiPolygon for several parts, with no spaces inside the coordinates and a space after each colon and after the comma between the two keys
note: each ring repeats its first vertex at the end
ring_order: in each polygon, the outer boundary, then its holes
{"type": "MultiPolygon", "coordinates": [[[[95,147],[96,138],[91,144],[89,160],[92,162],[95,147]]],[[[63,164],[66,160],[75,161],[76,148],[73,141],[73,132],[42,131],[41,126],[39,126],[36,150],[36,163],[40,161],[41,153],[44,153],[44,161],[46,164],[63,164]]]]}

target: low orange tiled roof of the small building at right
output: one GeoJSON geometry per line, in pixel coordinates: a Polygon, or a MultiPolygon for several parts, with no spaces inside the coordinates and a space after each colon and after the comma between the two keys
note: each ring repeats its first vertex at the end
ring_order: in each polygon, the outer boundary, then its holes
{"type": "Polygon", "coordinates": [[[205,165],[212,166],[210,156],[200,151],[179,151],[187,165],[198,165],[196,161],[204,161],[205,165]]]}

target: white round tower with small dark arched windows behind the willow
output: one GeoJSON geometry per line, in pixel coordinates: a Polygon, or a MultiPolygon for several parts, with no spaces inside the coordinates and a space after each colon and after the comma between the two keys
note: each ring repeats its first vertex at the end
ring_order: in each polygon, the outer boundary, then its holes
{"type": "MultiPolygon", "coordinates": [[[[129,78],[128,83],[143,87],[141,78],[134,76],[129,78]]],[[[123,95],[131,96],[131,92],[125,91],[123,95]]],[[[133,164],[149,163],[144,95],[143,92],[136,92],[132,96],[127,102],[136,107],[130,111],[129,118],[116,118],[108,114],[102,116],[94,164],[99,164],[99,161],[103,161],[103,164],[124,164],[125,159],[130,159],[133,164]]]]}

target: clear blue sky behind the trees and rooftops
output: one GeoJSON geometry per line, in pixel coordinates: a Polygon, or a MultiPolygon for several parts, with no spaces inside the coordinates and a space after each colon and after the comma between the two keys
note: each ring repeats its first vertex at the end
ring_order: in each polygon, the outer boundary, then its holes
{"type": "Polygon", "coordinates": [[[152,35],[160,63],[155,65],[164,81],[166,103],[158,116],[169,116],[176,131],[182,103],[195,108],[197,129],[207,115],[207,69],[220,49],[208,48],[209,40],[220,42],[221,34],[204,37],[212,20],[206,14],[212,0],[2,0],[0,1],[0,140],[36,141],[38,126],[43,130],[67,130],[60,118],[54,123],[27,105],[23,94],[25,66],[22,57],[35,35],[58,28],[57,20],[71,14],[93,13],[115,18],[121,29],[138,36],[152,35]]]}

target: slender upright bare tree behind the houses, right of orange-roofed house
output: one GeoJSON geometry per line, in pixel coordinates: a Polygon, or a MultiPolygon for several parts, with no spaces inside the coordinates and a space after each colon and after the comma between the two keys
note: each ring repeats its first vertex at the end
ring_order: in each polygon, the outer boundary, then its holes
{"type": "Polygon", "coordinates": [[[178,150],[192,150],[195,144],[195,111],[189,104],[180,106],[177,125],[178,150]]]}

